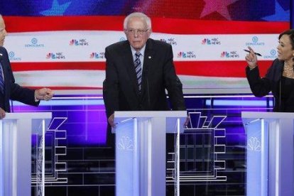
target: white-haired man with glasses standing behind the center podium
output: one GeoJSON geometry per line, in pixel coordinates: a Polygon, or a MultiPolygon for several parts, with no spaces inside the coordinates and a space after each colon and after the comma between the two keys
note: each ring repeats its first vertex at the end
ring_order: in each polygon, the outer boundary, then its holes
{"type": "Polygon", "coordinates": [[[103,97],[109,125],[115,126],[114,111],[170,110],[165,89],[172,109],[185,110],[172,47],[150,38],[151,19],[144,13],[131,13],[124,19],[124,33],[127,40],[105,49],[103,97]]]}

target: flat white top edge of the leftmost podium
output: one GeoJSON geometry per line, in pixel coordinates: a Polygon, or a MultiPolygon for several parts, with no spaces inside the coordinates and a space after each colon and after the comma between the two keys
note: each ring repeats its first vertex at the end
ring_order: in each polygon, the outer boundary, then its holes
{"type": "Polygon", "coordinates": [[[51,112],[17,112],[17,113],[6,113],[3,120],[13,119],[52,119],[51,112]]]}

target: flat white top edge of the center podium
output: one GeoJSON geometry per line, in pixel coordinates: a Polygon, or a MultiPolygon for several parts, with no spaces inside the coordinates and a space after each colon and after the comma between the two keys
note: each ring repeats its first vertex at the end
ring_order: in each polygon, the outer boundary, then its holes
{"type": "Polygon", "coordinates": [[[187,117],[187,111],[115,111],[115,118],[182,118],[187,117]]]}

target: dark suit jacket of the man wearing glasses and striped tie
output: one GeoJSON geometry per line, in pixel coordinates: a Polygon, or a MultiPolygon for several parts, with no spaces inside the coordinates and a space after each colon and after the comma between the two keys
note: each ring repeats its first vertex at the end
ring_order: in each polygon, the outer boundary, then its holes
{"type": "Polygon", "coordinates": [[[185,110],[182,83],[175,74],[171,45],[151,38],[147,40],[141,93],[128,40],[109,45],[105,58],[103,97],[107,118],[114,111],[169,110],[165,89],[172,109],[185,110]]]}

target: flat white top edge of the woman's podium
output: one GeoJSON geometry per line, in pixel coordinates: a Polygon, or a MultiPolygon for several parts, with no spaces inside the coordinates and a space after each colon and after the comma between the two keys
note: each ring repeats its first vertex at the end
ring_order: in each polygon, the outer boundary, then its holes
{"type": "Polygon", "coordinates": [[[294,113],[242,111],[241,118],[242,119],[294,119],[294,113]]]}

